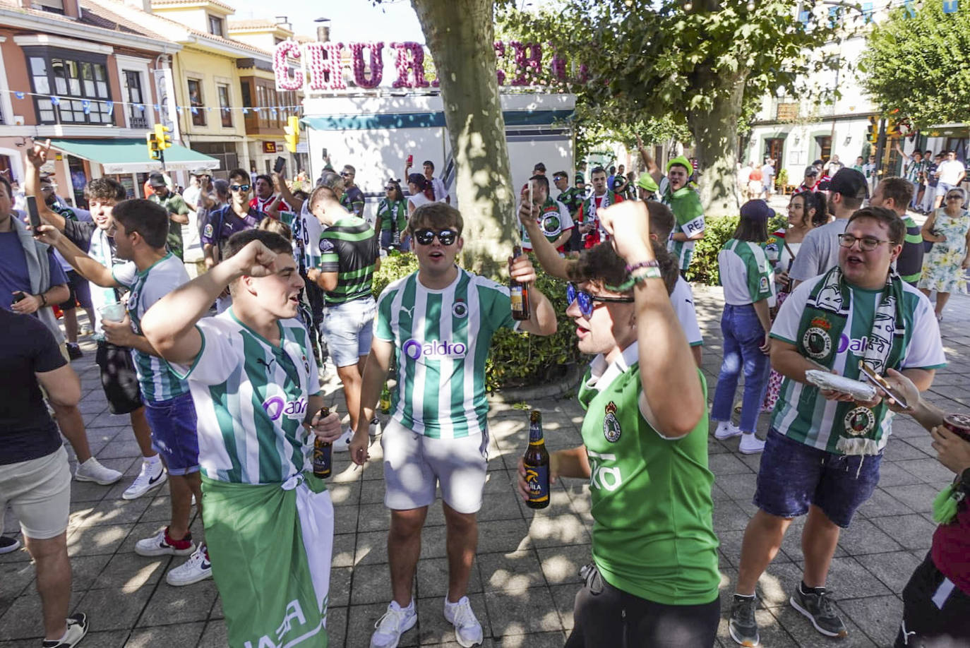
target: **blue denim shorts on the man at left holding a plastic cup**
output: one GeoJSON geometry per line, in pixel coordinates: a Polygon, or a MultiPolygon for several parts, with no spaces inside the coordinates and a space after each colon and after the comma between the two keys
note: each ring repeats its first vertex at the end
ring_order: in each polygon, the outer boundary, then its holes
{"type": "Polygon", "coordinates": [[[151,447],[162,456],[169,474],[199,470],[199,435],[191,394],[168,401],[145,402],[151,447]]]}

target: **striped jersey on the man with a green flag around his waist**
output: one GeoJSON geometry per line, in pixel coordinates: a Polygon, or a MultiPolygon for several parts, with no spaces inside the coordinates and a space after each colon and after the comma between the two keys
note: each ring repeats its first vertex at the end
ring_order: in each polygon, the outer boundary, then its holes
{"type": "Polygon", "coordinates": [[[217,481],[281,483],[307,465],[307,400],[320,393],[307,329],[280,320],[280,345],[247,327],[232,308],[196,324],[202,350],[188,379],[199,428],[199,465],[217,481]]]}

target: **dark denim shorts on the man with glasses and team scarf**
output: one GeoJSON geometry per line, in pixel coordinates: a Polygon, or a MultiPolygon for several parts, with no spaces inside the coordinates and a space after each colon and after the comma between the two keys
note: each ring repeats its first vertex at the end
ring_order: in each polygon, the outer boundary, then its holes
{"type": "Polygon", "coordinates": [[[768,430],[755,505],[765,513],[792,518],[808,512],[809,504],[845,528],[879,483],[878,455],[837,455],[768,430]]]}

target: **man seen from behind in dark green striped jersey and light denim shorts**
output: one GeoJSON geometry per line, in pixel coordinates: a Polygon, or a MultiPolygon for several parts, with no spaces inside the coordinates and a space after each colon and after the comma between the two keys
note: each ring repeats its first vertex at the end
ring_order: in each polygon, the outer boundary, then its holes
{"type": "Polygon", "coordinates": [[[337,174],[324,172],[320,185],[309,197],[309,211],[323,231],[319,265],[308,270],[307,277],[324,291],[323,335],[343,383],[343,398],[350,413],[350,428],[334,449],[345,451],[357,429],[361,374],[371,351],[377,308],[371,283],[374,272],[380,268],[380,246],[367,221],[340,205],[342,194],[343,180],[337,174]]]}

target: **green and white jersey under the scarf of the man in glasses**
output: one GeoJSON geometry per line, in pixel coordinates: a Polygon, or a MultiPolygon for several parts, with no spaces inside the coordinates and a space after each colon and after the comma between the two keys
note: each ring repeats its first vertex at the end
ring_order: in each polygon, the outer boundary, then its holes
{"type": "MultiPolygon", "coordinates": [[[[792,291],[782,308],[778,312],[771,327],[771,337],[786,341],[797,346],[799,326],[805,304],[813,288],[824,279],[820,275],[798,284],[792,291]]],[[[831,370],[847,378],[859,379],[858,362],[862,360],[865,349],[870,343],[880,343],[877,339],[870,340],[873,329],[873,318],[876,313],[881,290],[865,290],[850,284],[851,305],[849,317],[838,340],[832,340],[827,334],[830,323],[823,318],[812,321],[810,328],[805,331],[805,345],[818,349],[816,359],[827,356],[834,348],[835,359],[831,370]]],[[[933,308],[922,293],[913,286],[903,284],[903,317],[904,330],[911,332],[906,340],[903,359],[897,371],[903,369],[938,369],[946,365],[943,345],[940,341],[940,329],[933,314],[933,308]]],[[[804,384],[786,377],[782,381],[778,403],[771,414],[771,427],[779,433],[794,440],[810,445],[826,452],[842,454],[836,447],[839,429],[854,428],[859,434],[871,432],[878,428],[876,437],[877,447],[882,449],[889,441],[892,414],[881,417],[880,420],[864,418],[860,420],[840,421],[836,417],[837,401],[829,401],[819,393],[819,389],[810,384],[804,384]],[[864,430],[863,430],[864,428],[864,430]]],[[[864,407],[858,408],[859,412],[864,407]]],[[[854,410],[855,412],[855,410],[854,410]]],[[[864,412],[856,412],[857,417],[868,416],[864,412]]],[[[853,412],[850,412],[853,413],[853,412]]]]}

